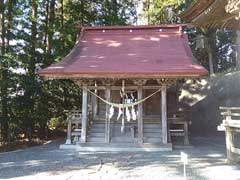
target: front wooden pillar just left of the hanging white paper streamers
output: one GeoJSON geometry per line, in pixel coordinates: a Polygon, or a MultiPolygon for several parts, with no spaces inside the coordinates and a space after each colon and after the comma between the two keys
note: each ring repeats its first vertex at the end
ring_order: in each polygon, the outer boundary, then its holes
{"type": "MultiPolygon", "coordinates": [[[[110,84],[106,85],[105,98],[107,101],[111,101],[111,88],[110,84]]],[[[106,104],[106,125],[105,125],[105,143],[110,143],[110,106],[106,104]]]]}

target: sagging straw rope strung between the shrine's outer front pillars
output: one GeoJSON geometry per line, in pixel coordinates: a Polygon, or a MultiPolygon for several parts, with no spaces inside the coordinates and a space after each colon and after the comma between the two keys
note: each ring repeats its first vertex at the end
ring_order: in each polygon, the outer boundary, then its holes
{"type": "Polygon", "coordinates": [[[101,101],[103,101],[104,103],[110,105],[110,106],[113,106],[115,108],[129,108],[129,107],[133,107],[133,106],[136,106],[140,103],[143,103],[144,101],[146,101],[147,99],[149,99],[150,97],[154,96],[155,94],[157,94],[158,92],[160,92],[162,89],[158,89],[157,91],[155,91],[154,93],[150,94],[149,96],[137,101],[137,102],[133,102],[133,103],[129,103],[129,104],[117,104],[117,103],[112,103],[112,102],[109,102],[105,99],[103,99],[102,97],[98,96],[97,94],[95,94],[94,92],[90,91],[89,89],[87,89],[86,87],[83,87],[85,88],[88,92],[90,92],[92,95],[96,96],[97,98],[99,98],[101,101]]]}

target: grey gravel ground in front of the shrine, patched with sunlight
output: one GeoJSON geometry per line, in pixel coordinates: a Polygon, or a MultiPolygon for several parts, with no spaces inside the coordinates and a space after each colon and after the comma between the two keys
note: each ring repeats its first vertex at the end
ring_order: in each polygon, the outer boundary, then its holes
{"type": "Polygon", "coordinates": [[[60,141],[0,154],[0,179],[181,180],[180,152],[189,155],[187,180],[240,180],[240,165],[226,163],[223,138],[194,138],[192,148],[172,152],[79,153],[60,141]]]}

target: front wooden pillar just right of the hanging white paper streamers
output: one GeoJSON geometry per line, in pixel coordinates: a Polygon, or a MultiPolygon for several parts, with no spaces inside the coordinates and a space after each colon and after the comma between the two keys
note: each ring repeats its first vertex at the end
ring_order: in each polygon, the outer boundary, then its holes
{"type": "MultiPolygon", "coordinates": [[[[138,100],[141,100],[143,97],[143,88],[142,84],[138,85],[138,100]]],[[[138,104],[138,143],[143,143],[143,103],[138,104]]]]}

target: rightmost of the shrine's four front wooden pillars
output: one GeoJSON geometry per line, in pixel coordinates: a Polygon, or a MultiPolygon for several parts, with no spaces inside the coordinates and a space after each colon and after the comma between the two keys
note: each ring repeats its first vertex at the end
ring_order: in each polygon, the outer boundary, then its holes
{"type": "Polygon", "coordinates": [[[162,85],[162,142],[168,143],[168,127],[167,127],[167,86],[162,85]]]}

